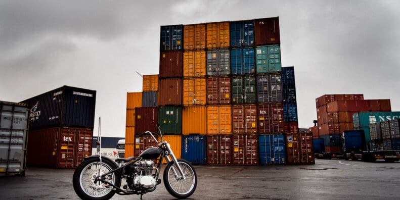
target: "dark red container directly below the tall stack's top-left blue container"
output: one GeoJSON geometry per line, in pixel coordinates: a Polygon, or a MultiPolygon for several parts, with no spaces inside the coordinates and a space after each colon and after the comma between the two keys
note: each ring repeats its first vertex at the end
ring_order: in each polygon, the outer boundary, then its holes
{"type": "Polygon", "coordinates": [[[180,78],[183,76],[183,53],[160,53],[160,78],[180,78]]]}

